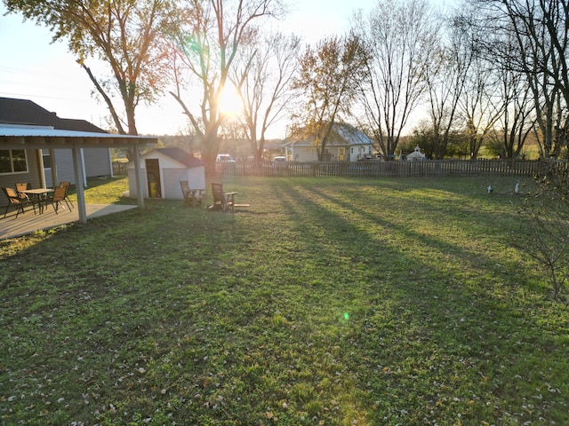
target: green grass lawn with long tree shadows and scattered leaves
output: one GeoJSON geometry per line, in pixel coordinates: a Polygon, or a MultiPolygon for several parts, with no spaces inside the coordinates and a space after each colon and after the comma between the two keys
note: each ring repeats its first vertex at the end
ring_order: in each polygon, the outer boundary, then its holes
{"type": "Polygon", "coordinates": [[[514,180],[223,182],[0,241],[2,424],[569,424],[514,180]]]}

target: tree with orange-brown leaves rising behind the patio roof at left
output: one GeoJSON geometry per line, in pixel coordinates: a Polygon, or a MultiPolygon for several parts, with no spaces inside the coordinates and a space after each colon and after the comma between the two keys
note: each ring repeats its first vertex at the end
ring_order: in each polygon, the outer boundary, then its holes
{"type": "Polygon", "coordinates": [[[174,10],[168,0],[4,0],[9,12],[49,27],[53,40],[68,48],[108,106],[116,130],[136,135],[135,110],[152,102],[164,83],[165,55],[159,34],[169,28],[174,10]],[[111,77],[97,77],[87,64],[100,59],[111,77]],[[121,114],[116,96],[123,103],[121,114]],[[124,129],[124,121],[127,129],[124,129]]]}

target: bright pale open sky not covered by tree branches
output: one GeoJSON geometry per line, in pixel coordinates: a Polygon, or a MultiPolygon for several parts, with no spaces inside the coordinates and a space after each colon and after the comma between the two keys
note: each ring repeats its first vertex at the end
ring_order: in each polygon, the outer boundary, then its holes
{"type": "MultiPolygon", "coordinates": [[[[296,0],[289,2],[293,12],[280,25],[307,43],[317,43],[325,36],[343,34],[353,12],[370,11],[375,1],[296,0]]],[[[84,119],[108,128],[107,107],[92,95],[92,83],[68,52],[67,43],[52,43],[47,28],[18,14],[4,16],[5,12],[0,2],[0,97],[30,99],[60,118],[84,119]]],[[[136,120],[139,133],[146,135],[180,134],[187,127],[171,95],[153,106],[138,106],[136,120]]],[[[271,137],[284,138],[284,124],[271,137]]]]}

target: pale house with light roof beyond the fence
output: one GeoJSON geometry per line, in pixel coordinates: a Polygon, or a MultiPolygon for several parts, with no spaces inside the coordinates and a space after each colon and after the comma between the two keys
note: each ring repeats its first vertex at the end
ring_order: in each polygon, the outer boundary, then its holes
{"type": "MultiPolygon", "coordinates": [[[[316,162],[317,146],[314,138],[295,138],[284,143],[284,154],[289,162],[316,162]]],[[[363,131],[347,123],[335,123],[325,146],[325,162],[360,162],[375,158],[373,140],[363,131]]]]}

